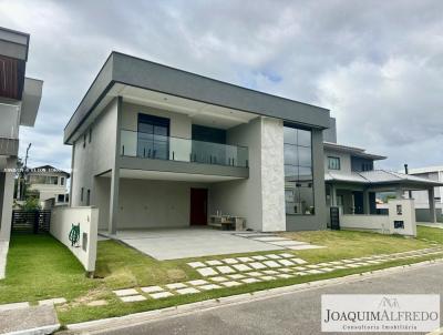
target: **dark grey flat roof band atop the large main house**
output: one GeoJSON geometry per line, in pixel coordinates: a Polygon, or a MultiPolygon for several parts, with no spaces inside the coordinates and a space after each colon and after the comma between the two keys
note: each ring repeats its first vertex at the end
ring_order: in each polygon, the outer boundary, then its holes
{"type": "MultiPolygon", "coordinates": [[[[64,143],[109,97],[119,95],[116,84],[148,90],[225,109],[277,118],[316,128],[329,128],[329,110],[258,92],[207,77],[162,65],[113,51],[64,129],[64,143]]],[[[100,113],[100,111],[99,111],[100,113]]]]}

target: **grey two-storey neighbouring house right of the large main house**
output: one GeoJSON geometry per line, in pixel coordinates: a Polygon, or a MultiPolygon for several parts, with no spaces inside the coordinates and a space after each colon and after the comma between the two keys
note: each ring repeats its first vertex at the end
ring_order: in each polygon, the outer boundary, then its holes
{"type": "MultiPolygon", "coordinates": [[[[334,123],[328,130],[329,138],[337,140],[333,128],[334,123]]],[[[443,186],[442,181],[424,175],[375,170],[374,162],[384,159],[364,149],[324,142],[327,206],[339,206],[343,214],[378,214],[377,193],[394,192],[402,199],[405,191],[420,191],[433,197],[434,187],[443,186]]],[[[429,221],[435,222],[435,209],[427,214],[429,221]]]]}

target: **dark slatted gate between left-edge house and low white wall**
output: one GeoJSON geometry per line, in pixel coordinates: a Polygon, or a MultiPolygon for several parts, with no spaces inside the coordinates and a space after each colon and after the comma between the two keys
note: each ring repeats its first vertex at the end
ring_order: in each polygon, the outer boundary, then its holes
{"type": "Polygon", "coordinates": [[[11,231],[20,233],[47,233],[51,223],[51,211],[13,210],[11,231]]]}

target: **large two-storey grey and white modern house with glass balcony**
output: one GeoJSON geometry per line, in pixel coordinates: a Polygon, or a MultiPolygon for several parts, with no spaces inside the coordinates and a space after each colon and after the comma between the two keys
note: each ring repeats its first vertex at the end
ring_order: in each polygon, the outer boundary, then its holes
{"type": "Polygon", "coordinates": [[[112,52],[64,130],[72,206],[100,229],[326,227],[329,111],[112,52]]]}

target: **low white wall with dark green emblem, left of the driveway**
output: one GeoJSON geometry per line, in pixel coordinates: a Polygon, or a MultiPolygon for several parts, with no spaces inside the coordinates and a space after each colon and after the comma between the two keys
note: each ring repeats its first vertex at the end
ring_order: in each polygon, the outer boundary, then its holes
{"type": "Polygon", "coordinates": [[[51,235],[63,243],[89,273],[95,271],[97,226],[99,209],[68,206],[52,209],[51,235]],[[69,237],[73,224],[80,224],[79,242],[74,246],[69,237]]]}

